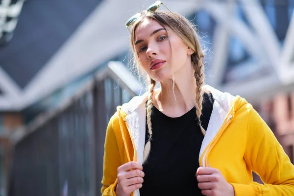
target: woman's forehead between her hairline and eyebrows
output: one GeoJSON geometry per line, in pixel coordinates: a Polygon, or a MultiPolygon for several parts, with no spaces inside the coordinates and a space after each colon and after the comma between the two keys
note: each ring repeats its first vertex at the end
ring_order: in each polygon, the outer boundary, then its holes
{"type": "Polygon", "coordinates": [[[136,28],[135,31],[135,40],[144,39],[149,36],[153,31],[164,28],[160,23],[156,20],[145,19],[140,23],[140,25],[136,28]]]}

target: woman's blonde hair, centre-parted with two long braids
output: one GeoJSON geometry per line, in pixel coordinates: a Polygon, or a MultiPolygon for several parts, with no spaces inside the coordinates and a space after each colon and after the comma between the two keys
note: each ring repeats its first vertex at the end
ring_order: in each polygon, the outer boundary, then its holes
{"type": "MultiPolygon", "coordinates": [[[[203,86],[204,86],[204,52],[200,46],[200,38],[195,29],[195,26],[188,21],[185,17],[181,16],[177,13],[172,13],[170,11],[156,11],[154,13],[142,12],[140,18],[138,18],[133,25],[131,30],[131,48],[133,51],[133,65],[136,65],[137,71],[140,75],[140,65],[138,54],[135,49],[135,31],[138,25],[141,24],[146,19],[156,20],[159,24],[161,24],[165,29],[171,29],[190,49],[194,51],[191,55],[191,62],[193,65],[193,69],[195,71],[194,76],[196,78],[196,116],[197,123],[201,129],[203,135],[205,135],[206,131],[201,125],[201,114],[202,114],[202,101],[203,101],[203,86]]],[[[148,101],[147,101],[147,127],[148,127],[148,140],[147,144],[144,147],[143,153],[143,162],[147,161],[152,140],[152,124],[151,124],[151,112],[153,106],[153,93],[156,85],[156,81],[151,79],[148,76],[149,87],[148,87],[148,101]]]]}

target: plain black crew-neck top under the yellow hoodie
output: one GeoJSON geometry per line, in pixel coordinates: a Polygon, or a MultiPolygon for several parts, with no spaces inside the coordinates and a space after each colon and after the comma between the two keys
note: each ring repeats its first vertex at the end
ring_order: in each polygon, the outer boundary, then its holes
{"type": "MultiPolygon", "coordinates": [[[[202,127],[206,130],[214,98],[203,95],[202,127]]],[[[196,180],[198,157],[203,134],[196,121],[196,108],[181,117],[171,118],[152,108],[151,151],[145,172],[141,196],[202,196],[196,180]]],[[[148,128],[146,125],[146,138],[148,128]]]]}

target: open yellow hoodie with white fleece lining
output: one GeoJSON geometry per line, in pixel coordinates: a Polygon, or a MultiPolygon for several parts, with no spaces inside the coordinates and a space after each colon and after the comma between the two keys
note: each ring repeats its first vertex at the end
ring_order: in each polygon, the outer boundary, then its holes
{"type": "MultiPolygon", "coordinates": [[[[244,98],[222,93],[208,85],[215,98],[199,153],[200,167],[221,171],[235,196],[294,196],[294,166],[268,125],[244,98]],[[265,184],[253,182],[252,171],[265,184]]],[[[117,107],[109,121],[104,151],[102,196],[115,196],[117,169],[143,162],[147,96],[117,107]]],[[[168,164],[168,163],[167,163],[168,164]]],[[[132,196],[140,196],[139,190],[132,196]]]]}

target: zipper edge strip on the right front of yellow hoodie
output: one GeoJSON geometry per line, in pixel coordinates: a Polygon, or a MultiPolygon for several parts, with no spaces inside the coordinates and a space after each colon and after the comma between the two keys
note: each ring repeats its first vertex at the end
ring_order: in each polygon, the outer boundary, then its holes
{"type": "Polygon", "coordinates": [[[232,107],[231,111],[228,113],[227,117],[225,118],[224,123],[222,123],[220,130],[218,131],[218,133],[216,134],[216,136],[214,137],[214,139],[210,142],[210,144],[205,148],[200,161],[199,161],[199,166],[203,167],[203,158],[204,158],[204,166],[205,167],[209,167],[209,163],[208,163],[208,155],[210,153],[210,151],[212,150],[212,148],[214,147],[214,145],[218,142],[218,140],[221,137],[221,134],[223,133],[223,131],[227,128],[227,126],[231,123],[232,119],[233,119],[233,115],[232,113],[234,113],[234,107],[232,107]]]}

